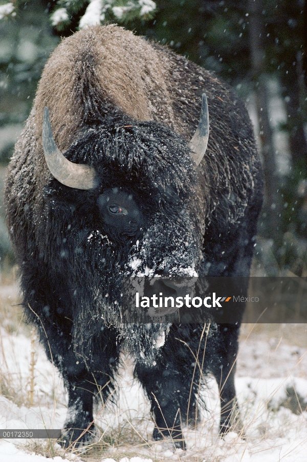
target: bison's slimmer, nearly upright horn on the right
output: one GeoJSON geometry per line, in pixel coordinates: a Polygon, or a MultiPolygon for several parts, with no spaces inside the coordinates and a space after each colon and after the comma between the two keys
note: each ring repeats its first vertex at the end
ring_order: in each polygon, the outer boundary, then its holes
{"type": "Polygon", "coordinates": [[[202,96],[202,109],[199,126],[197,127],[193,138],[189,142],[189,148],[192,151],[192,159],[196,165],[199,165],[205,155],[209,139],[209,111],[206,93],[202,96]]]}

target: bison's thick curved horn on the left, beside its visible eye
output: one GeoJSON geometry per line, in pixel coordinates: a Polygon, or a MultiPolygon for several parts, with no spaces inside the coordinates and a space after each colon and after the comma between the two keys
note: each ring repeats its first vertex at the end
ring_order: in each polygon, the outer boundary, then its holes
{"type": "Polygon", "coordinates": [[[42,146],[48,168],[57,181],[77,189],[93,189],[97,186],[94,167],[74,164],[66,159],[58,149],[52,134],[48,107],[43,110],[42,146]]]}

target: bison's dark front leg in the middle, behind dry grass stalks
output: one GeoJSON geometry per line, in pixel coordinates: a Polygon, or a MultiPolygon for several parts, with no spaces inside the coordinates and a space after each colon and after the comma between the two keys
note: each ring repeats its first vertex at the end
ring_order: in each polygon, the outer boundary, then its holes
{"type": "Polygon", "coordinates": [[[200,380],[199,369],[194,368],[193,355],[179,340],[190,338],[190,331],[189,325],[172,325],[156,365],[150,367],[137,363],[135,368],[135,377],[140,380],[151,403],[156,424],[153,439],[171,438],[174,446],[182,449],[185,448],[182,423],[195,422],[196,392],[200,380]]]}

